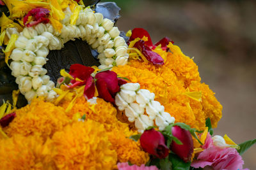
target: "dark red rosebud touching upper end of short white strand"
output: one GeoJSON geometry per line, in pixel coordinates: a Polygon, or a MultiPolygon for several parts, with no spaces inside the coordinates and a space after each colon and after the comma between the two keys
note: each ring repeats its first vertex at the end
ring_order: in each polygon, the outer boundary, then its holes
{"type": "Polygon", "coordinates": [[[117,74],[113,71],[103,71],[97,73],[96,76],[96,87],[99,93],[99,97],[105,101],[115,103],[115,95],[120,90],[118,85],[117,74]]]}

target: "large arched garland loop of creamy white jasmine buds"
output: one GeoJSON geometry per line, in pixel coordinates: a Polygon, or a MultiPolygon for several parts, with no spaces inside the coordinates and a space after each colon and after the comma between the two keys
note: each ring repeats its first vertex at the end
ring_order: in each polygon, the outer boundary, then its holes
{"type": "Polygon", "coordinates": [[[47,101],[53,101],[57,94],[52,90],[54,82],[45,75],[47,70],[43,66],[47,62],[49,50],[60,50],[64,43],[75,38],[86,40],[93,49],[97,49],[101,66],[106,67],[125,65],[129,55],[124,38],[120,31],[113,27],[114,23],[101,13],[93,13],[90,8],[84,8],[79,13],[76,25],[71,25],[72,12],[65,10],[65,18],[61,21],[61,33],[55,31],[51,24],[38,24],[25,27],[22,32],[11,28],[8,34],[18,34],[15,49],[10,58],[12,75],[16,77],[19,89],[28,101],[35,96],[44,96],[47,101]]]}

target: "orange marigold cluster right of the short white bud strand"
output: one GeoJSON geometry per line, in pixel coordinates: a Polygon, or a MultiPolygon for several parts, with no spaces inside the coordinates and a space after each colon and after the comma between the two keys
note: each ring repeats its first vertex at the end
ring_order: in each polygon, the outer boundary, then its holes
{"type": "Polygon", "coordinates": [[[204,130],[205,119],[209,117],[212,127],[216,127],[221,118],[221,104],[212,90],[200,83],[195,62],[184,55],[178,46],[170,44],[170,51],[163,66],[131,60],[126,66],[114,67],[113,71],[129,78],[132,83],[140,83],[141,89],[154,92],[156,101],[163,104],[176,122],[204,130]],[[202,101],[192,99],[186,92],[202,92],[202,101]]]}

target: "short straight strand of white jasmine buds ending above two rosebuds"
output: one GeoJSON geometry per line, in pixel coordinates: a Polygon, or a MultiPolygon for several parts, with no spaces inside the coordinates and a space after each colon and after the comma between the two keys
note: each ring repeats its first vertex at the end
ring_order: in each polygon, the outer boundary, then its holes
{"type": "Polygon", "coordinates": [[[143,133],[148,127],[154,126],[154,123],[159,130],[163,130],[175,122],[174,117],[164,112],[164,106],[154,101],[155,94],[140,89],[139,83],[126,83],[120,89],[115,96],[116,106],[118,110],[125,111],[129,122],[135,121],[138,132],[143,133]]]}

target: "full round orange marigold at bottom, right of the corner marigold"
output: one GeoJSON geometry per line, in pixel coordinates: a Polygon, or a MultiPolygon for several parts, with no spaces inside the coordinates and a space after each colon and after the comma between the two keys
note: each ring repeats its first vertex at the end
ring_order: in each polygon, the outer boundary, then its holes
{"type": "Polygon", "coordinates": [[[102,124],[74,122],[52,136],[52,158],[59,169],[113,169],[116,152],[102,124]]]}

